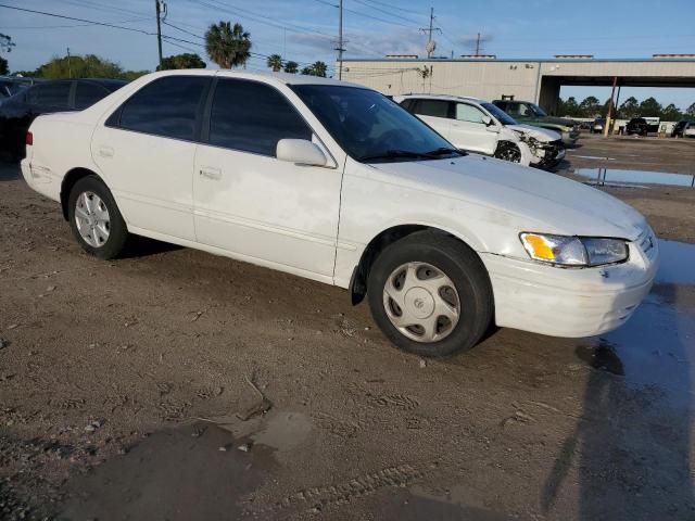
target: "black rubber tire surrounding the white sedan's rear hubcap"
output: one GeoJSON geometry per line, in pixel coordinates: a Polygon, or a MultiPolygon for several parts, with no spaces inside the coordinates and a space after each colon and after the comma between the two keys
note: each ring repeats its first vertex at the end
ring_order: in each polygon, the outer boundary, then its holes
{"type": "Polygon", "coordinates": [[[123,252],[128,240],[128,228],[125,220],[123,220],[123,216],[118,211],[118,206],[111,191],[109,191],[106,186],[97,176],[83,177],[75,183],[67,200],[67,219],[73,236],[79,245],[90,255],[109,260],[117,257],[123,252]],[[85,192],[91,192],[98,195],[109,211],[109,238],[98,247],[85,241],[79,233],[75,219],[77,199],[85,192]]]}

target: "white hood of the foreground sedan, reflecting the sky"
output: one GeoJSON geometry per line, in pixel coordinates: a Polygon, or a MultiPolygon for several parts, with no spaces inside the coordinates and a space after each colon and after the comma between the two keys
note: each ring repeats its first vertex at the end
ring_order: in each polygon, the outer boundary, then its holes
{"type": "Polygon", "coordinates": [[[471,154],[371,166],[387,182],[465,201],[477,218],[504,221],[517,232],[635,240],[646,228],[637,211],[612,195],[501,160],[471,154]]]}

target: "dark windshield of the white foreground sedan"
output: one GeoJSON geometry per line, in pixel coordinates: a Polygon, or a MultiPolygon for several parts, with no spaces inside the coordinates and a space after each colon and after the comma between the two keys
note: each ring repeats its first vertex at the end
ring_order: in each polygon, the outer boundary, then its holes
{"type": "Polygon", "coordinates": [[[292,90],[356,161],[462,155],[419,118],[374,90],[333,85],[294,85],[292,90]]]}

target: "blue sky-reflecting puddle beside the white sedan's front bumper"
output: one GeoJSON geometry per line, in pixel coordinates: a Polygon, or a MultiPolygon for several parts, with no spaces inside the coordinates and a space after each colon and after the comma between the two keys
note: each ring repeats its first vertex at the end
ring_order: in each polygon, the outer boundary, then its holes
{"type": "Polygon", "coordinates": [[[574,353],[594,369],[694,408],[695,244],[660,240],[659,247],[654,289],[628,323],[581,342],[574,353]]]}

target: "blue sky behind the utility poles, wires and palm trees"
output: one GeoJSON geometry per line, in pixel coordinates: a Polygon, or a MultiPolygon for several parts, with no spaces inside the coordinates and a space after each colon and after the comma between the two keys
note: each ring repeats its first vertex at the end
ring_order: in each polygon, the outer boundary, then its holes
{"type": "MultiPolygon", "coordinates": [[[[164,43],[164,54],[198,51],[205,27],[219,20],[240,22],[251,33],[253,51],[279,53],[309,63],[334,64],[338,0],[167,0],[163,31],[186,41],[164,43]],[[182,30],[180,30],[182,29],[182,30]],[[182,46],[187,49],[182,49],[182,46]]],[[[154,31],[154,0],[0,0],[0,3],[154,31]]],[[[344,0],[345,58],[382,58],[387,53],[425,54],[427,38],[418,28],[434,8],[438,54],[472,52],[477,33],[483,51],[500,58],[648,58],[653,53],[695,53],[695,0],[344,0]]],[[[153,36],[0,8],[0,33],[16,48],[5,58],[12,69],[30,69],[52,55],[94,53],[126,68],[156,65],[153,36]]],[[[249,66],[265,68],[254,56],[249,66]]],[[[604,100],[607,89],[571,87],[563,97],[604,100]]],[[[622,99],[655,96],[685,107],[695,89],[623,89],[622,99]]]]}

